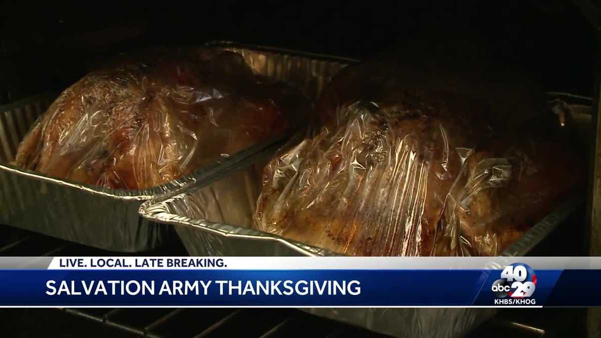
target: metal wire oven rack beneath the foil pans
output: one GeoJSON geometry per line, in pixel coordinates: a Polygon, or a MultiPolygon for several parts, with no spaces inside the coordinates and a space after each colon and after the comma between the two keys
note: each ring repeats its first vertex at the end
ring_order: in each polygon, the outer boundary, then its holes
{"type": "MultiPolygon", "coordinates": [[[[184,256],[179,245],[168,251],[144,253],[147,256],[184,256]]],[[[0,226],[0,256],[123,256],[97,248],[73,244],[25,230],[0,226]]],[[[43,309],[44,311],[56,311],[43,309]]],[[[109,328],[117,337],[373,337],[385,338],[362,328],[319,318],[294,309],[172,309],[172,308],[63,308],[69,318],[87,319],[86,326],[109,328]],[[96,325],[96,326],[95,326],[96,325]],[[117,334],[118,333],[118,334],[117,334]]],[[[539,309],[536,309],[539,310],[539,309]]],[[[17,310],[15,310],[17,311],[17,310]]],[[[554,337],[540,325],[524,324],[516,318],[529,318],[532,312],[501,312],[481,325],[469,337],[554,337]]],[[[561,313],[555,314],[563,316],[561,313]]],[[[100,336],[106,336],[102,333],[100,336]]],[[[95,337],[95,336],[90,336],[95,337]]],[[[559,337],[559,336],[557,336],[559,337]]]]}

